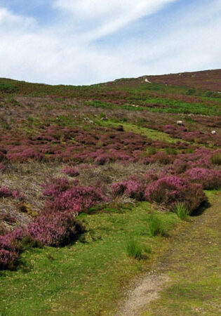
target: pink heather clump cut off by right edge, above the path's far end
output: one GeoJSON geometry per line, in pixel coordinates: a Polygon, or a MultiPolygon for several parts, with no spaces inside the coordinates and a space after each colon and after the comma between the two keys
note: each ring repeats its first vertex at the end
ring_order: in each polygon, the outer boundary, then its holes
{"type": "Polygon", "coordinates": [[[206,190],[219,189],[221,187],[220,170],[193,168],[187,170],[185,176],[194,183],[201,183],[206,190]]]}

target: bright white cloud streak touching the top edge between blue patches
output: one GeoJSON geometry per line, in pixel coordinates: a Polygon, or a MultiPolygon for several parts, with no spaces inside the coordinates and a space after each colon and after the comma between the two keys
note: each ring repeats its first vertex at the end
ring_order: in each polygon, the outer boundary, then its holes
{"type": "Polygon", "coordinates": [[[177,0],[55,0],[58,8],[70,18],[69,23],[81,32],[87,30],[86,39],[98,39],[116,32],[131,22],[150,15],[177,0]],[[88,26],[88,27],[87,27],[88,26]]]}

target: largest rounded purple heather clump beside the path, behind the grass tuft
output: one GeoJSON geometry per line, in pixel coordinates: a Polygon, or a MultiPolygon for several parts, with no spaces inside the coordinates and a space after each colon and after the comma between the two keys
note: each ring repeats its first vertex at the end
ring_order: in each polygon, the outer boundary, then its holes
{"type": "Polygon", "coordinates": [[[170,209],[174,208],[175,203],[183,202],[190,212],[206,201],[201,185],[189,183],[178,176],[166,176],[149,183],[145,198],[149,202],[165,204],[170,209]]]}

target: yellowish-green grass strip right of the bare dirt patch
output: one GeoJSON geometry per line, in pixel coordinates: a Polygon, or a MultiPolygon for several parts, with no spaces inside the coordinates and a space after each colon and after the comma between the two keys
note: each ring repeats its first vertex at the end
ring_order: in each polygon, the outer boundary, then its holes
{"type": "Polygon", "coordinates": [[[212,206],[194,220],[194,227],[172,244],[164,261],[170,282],[147,315],[220,315],[220,200],[207,192],[212,206]],[[173,249],[172,249],[173,248],[173,249]]]}

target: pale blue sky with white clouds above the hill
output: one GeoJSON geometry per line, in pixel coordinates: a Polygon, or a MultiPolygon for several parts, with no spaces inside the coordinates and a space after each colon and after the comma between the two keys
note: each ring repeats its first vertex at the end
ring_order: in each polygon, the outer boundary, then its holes
{"type": "Polygon", "coordinates": [[[97,84],[221,68],[221,0],[0,0],[0,77],[97,84]]]}

